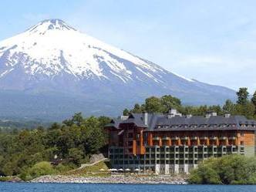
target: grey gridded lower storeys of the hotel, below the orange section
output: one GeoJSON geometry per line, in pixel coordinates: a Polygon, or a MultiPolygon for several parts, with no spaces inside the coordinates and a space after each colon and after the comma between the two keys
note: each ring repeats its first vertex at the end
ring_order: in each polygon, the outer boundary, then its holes
{"type": "Polygon", "coordinates": [[[123,147],[110,147],[109,159],[116,169],[135,170],[144,172],[169,174],[188,173],[201,160],[208,157],[222,157],[227,154],[244,154],[244,147],[236,146],[171,146],[146,147],[144,155],[126,155],[123,147]],[[242,150],[241,150],[242,149],[242,150]]]}

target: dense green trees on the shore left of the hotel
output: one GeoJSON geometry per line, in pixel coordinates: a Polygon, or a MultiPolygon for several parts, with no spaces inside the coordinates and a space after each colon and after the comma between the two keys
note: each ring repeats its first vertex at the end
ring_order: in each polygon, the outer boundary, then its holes
{"type": "Polygon", "coordinates": [[[0,132],[0,175],[30,179],[44,173],[69,170],[86,163],[106,145],[103,126],[109,118],[83,118],[53,123],[48,129],[2,130],[0,132]],[[47,162],[59,161],[56,170],[47,162]]]}

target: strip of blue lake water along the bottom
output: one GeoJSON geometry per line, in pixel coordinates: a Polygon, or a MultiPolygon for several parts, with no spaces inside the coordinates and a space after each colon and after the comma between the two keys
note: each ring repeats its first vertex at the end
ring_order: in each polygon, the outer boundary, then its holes
{"type": "Polygon", "coordinates": [[[256,185],[150,185],[150,184],[27,184],[1,183],[0,192],[256,192],[256,185]]]}

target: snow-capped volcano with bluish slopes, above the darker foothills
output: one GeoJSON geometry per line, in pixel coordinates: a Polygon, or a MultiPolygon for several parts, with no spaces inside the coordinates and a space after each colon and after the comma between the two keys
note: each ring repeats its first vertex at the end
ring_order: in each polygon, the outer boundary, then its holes
{"type": "MultiPolygon", "coordinates": [[[[109,100],[111,106],[118,103],[120,109],[162,94],[180,97],[184,103],[221,104],[234,98],[231,89],[175,75],[60,19],[39,22],[0,42],[0,90],[55,96],[69,93],[72,98],[96,99],[103,105],[109,100]]],[[[90,108],[90,112],[101,110],[90,108]]],[[[79,107],[74,110],[83,111],[79,107]]],[[[109,107],[103,112],[111,110],[109,107]]]]}

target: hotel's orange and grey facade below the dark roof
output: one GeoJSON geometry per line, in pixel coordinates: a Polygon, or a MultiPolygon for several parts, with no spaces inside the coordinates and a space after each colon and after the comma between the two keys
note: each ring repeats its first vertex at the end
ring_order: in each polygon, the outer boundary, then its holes
{"type": "Polygon", "coordinates": [[[251,157],[256,150],[254,131],[144,132],[130,126],[123,130],[122,136],[115,137],[119,138],[114,142],[117,144],[109,147],[109,159],[116,169],[188,173],[209,157],[228,154],[251,157]]]}

